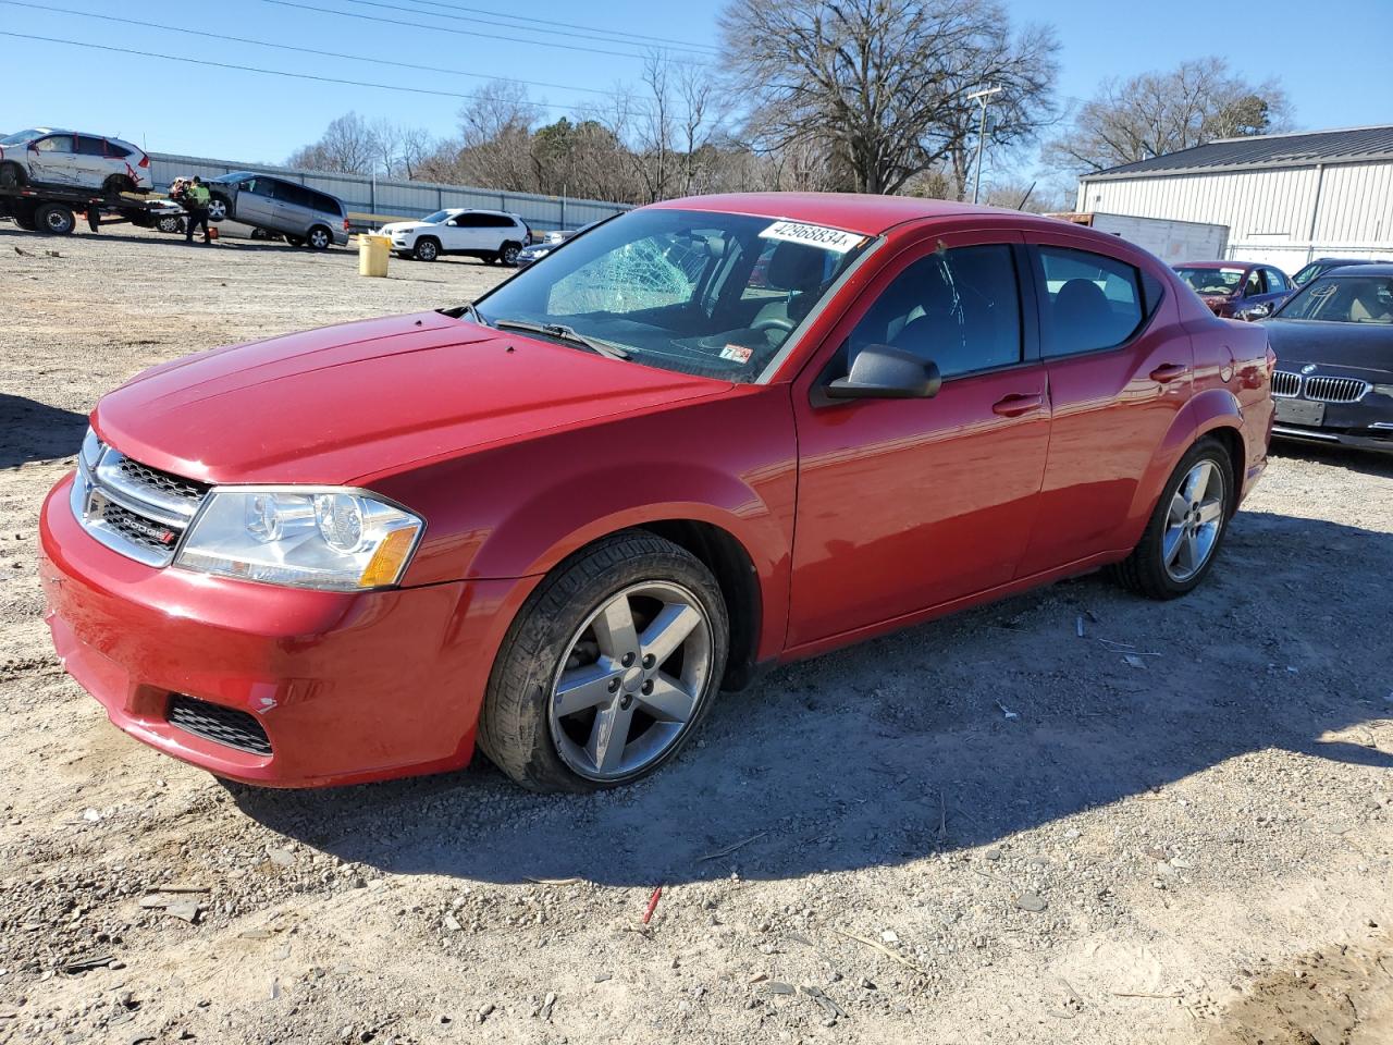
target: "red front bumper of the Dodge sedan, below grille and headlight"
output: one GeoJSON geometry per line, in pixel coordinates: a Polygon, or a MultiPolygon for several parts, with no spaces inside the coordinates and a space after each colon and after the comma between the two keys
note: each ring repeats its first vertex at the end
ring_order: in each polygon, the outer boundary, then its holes
{"type": "Polygon", "coordinates": [[[217,776],[280,787],[468,764],[517,581],[343,594],[155,568],[79,527],[71,483],[40,518],[46,620],[63,666],[116,726],[217,776]],[[178,695],[254,716],[270,754],[173,725],[178,695]]]}

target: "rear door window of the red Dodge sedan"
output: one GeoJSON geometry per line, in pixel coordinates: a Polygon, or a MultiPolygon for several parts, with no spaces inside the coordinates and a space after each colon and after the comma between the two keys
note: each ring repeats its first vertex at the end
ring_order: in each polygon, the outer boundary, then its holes
{"type": "Polygon", "coordinates": [[[1038,247],[1036,256],[1046,358],[1113,348],[1141,327],[1148,309],[1134,266],[1067,247],[1038,247]]]}

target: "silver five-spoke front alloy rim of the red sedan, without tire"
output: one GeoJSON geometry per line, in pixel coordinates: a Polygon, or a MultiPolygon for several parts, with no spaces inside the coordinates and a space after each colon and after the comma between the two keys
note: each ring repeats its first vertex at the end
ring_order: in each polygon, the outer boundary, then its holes
{"type": "Polygon", "coordinates": [[[588,780],[660,761],[691,725],[712,674],[701,601],[669,581],[609,596],[573,635],[547,708],[557,754],[588,780]]]}

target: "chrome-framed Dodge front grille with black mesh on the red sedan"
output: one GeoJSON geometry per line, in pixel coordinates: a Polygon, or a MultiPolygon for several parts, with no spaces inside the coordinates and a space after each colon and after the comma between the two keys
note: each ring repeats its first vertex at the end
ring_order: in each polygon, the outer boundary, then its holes
{"type": "Polygon", "coordinates": [[[209,488],[89,442],[93,460],[84,443],[72,479],[72,514],[113,552],[146,566],[169,566],[209,488]]]}

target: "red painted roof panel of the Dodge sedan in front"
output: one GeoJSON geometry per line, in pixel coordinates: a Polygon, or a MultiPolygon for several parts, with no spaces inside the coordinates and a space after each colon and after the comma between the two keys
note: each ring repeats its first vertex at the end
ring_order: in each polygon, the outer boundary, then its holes
{"type": "MultiPolygon", "coordinates": [[[[960,215],[1010,215],[1021,220],[1048,222],[1018,210],[974,206],[947,199],[919,196],[873,196],[858,192],[727,192],[710,196],[685,196],[649,203],[664,210],[715,210],[726,215],[751,215],[770,220],[788,219],[826,224],[862,235],[879,235],[897,224],[925,217],[960,215]]],[[[1055,227],[1053,224],[1050,227],[1055,227]]]]}

